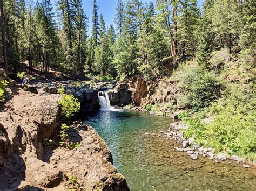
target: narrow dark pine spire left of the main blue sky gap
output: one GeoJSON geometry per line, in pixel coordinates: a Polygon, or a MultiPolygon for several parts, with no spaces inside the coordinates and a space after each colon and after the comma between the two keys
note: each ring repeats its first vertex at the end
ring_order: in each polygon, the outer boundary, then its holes
{"type": "Polygon", "coordinates": [[[94,44],[99,44],[99,18],[98,18],[98,5],[96,0],[93,1],[93,8],[92,8],[92,37],[94,40],[94,44]]]}

